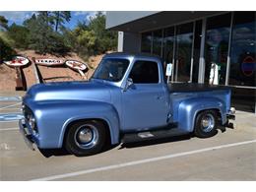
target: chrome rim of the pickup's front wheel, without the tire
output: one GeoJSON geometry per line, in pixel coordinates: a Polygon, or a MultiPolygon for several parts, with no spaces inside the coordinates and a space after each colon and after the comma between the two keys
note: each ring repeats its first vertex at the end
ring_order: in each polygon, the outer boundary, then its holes
{"type": "Polygon", "coordinates": [[[98,131],[94,125],[85,124],[80,126],[74,135],[75,143],[82,149],[91,149],[98,141],[98,131]]]}

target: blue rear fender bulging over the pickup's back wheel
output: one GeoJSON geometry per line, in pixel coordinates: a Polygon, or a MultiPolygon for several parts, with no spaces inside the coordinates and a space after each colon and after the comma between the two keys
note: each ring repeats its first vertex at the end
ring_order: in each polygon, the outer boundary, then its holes
{"type": "Polygon", "coordinates": [[[223,124],[226,121],[224,101],[216,97],[200,97],[186,99],[179,104],[178,128],[184,132],[193,132],[198,112],[207,109],[217,109],[221,112],[223,124]]]}

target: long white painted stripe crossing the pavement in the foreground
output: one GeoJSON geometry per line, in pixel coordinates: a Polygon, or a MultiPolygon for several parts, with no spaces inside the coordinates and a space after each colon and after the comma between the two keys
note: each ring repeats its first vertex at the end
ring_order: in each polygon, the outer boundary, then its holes
{"type": "Polygon", "coordinates": [[[85,170],[76,171],[76,172],[56,174],[56,175],[41,177],[41,178],[32,179],[32,180],[33,181],[47,181],[47,180],[61,179],[61,178],[67,178],[67,177],[72,177],[72,176],[79,176],[82,174],[89,174],[89,173],[94,173],[94,172],[98,172],[98,171],[122,168],[122,167],[126,167],[126,166],[133,166],[133,165],[138,165],[138,164],[142,164],[142,163],[154,162],[154,161],[158,161],[158,160],[168,160],[168,159],[173,159],[173,158],[178,158],[178,157],[183,157],[183,156],[189,156],[189,155],[193,155],[193,154],[200,154],[200,153],[209,152],[209,151],[213,151],[213,150],[220,150],[220,149],[231,148],[231,147],[235,147],[235,146],[251,144],[251,143],[255,143],[255,142],[256,142],[256,139],[251,140],[251,141],[226,144],[226,145],[221,145],[221,146],[216,146],[216,147],[211,147],[211,148],[204,148],[201,150],[195,150],[195,151],[190,151],[190,152],[171,154],[171,155],[167,155],[167,156],[161,156],[158,158],[135,160],[135,161],[129,161],[129,162],[113,164],[113,165],[108,165],[108,166],[96,167],[96,168],[92,168],[92,169],[85,169],[85,170]]]}

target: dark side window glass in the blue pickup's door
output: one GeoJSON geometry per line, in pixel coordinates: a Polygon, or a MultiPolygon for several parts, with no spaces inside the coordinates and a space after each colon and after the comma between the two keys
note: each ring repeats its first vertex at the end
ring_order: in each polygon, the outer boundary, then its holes
{"type": "Polygon", "coordinates": [[[159,67],[153,61],[136,61],[133,65],[129,78],[134,84],[158,84],[159,67]]]}

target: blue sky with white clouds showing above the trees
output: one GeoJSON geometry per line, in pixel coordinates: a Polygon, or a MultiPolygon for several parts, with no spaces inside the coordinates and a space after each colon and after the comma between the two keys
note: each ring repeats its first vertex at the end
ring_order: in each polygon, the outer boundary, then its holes
{"type": "MultiPolygon", "coordinates": [[[[16,23],[22,25],[23,22],[32,17],[32,11],[0,11],[0,16],[4,16],[8,21],[8,25],[16,23]]],[[[96,11],[72,11],[71,21],[65,24],[65,27],[74,29],[78,22],[89,22],[91,17],[96,16],[96,11]]]]}

